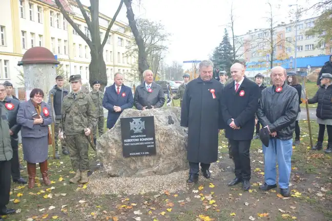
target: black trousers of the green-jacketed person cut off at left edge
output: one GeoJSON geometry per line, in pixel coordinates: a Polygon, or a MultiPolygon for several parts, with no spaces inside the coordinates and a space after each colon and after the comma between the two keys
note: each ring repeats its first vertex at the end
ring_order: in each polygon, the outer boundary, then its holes
{"type": "Polygon", "coordinates": [[[0,209],[9,203],[10,192],[10,161],[0,161],[0,209]]]}

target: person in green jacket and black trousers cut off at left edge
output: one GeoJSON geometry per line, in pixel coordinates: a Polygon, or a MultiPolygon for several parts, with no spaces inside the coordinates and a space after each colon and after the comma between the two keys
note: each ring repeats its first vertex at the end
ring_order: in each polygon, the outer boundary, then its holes
{"type": "MultiPolygon", "coordinates": [[[[0,84],[0,93],[6,93],[6,89],[3,84],[0,84]]],[[[10,143],[8,113],[6,107],[3,104],[0,104],[0,129],[0,221],[4,221],[1,216],[15,213],[16,210],[8,209],[6,207],[6,205],[9,203],[10,195],[10,160],[13,157],[13,149],[10,143]]]]}

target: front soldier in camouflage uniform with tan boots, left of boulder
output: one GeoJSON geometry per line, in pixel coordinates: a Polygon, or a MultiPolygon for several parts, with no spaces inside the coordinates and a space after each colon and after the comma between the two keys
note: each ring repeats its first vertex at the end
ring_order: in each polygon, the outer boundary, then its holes
{"type": "Polygon", "coordinates": [[[97,113],[90,95],[80,90],[81,76],[72,75],[69,82],[72,92],[63,100],[60,128],[64,134],[60,136],[66,140],[72,167],[76,170],[75,176],[69,181],[83,184],[89,182],[89,139],[97,123],[97,113]]]}

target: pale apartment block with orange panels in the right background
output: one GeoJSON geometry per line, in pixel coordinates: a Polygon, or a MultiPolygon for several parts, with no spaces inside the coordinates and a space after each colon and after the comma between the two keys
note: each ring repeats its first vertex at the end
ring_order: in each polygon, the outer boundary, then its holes
{"type": "MultiPolygon", "coordinates": [[[[320,43],[319,36],[306,35],[306,31],[315,25],[315,19],[317,17],[299,20],[297,25],[291,20],[288,24],[277,25],[272,31],[255,29],[244,35],[235,36],[237,56],[247,62],[265,62],[267,54],[271,59],[272,51],[274,51],[273,60],[284,60],[291,56],[294,58],[295,50],[298,58],[331,54],[332,47],[329,42],[320,43]],[[297,49],[295,49],[296,29],[297,49]]],[[[323,35],[324,31],[321,34],[323,35]]]]}

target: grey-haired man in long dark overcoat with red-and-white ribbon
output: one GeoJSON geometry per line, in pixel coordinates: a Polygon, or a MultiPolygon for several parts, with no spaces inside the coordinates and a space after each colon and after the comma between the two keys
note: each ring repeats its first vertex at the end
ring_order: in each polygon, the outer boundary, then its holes
{"type": "Polygon", "coordinates": [[[187,183],[198,182],[199,163],[204,177],[210,178],[210,164],[218,159],[218,129],[225,128],[221,116],[223,86],[213,78],[212,61],[201,61],[199,73],[188,83],[181,108],[180,124],[188,127],[187,183]]]}

